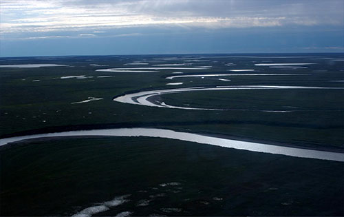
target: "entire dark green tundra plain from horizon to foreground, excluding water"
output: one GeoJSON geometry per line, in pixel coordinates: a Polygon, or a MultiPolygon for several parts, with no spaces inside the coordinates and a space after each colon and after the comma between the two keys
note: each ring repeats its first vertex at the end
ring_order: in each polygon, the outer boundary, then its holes
{"type": "MultiPolygon", "coordinates": [[[[178,87],[344,87],[343,82],[338,82],[344,81],[343,61],[333,61],[343,59],[344,54],[311,54],[319,56],[315,59],[308,55],[295,59],[268,56],[256,59],[204,58],[208,61],[187,62],[193,65],[185,67],[211,65],[212,68],[154,73],[96,70],[184,63],[190,56],[2,58],[0,65],[54,63],[69,66],[0,68],[0,138],[111,127],[160,127],[343,152],[343,90],[202,91],[155,97],[169,105],[227,109],[224,111],[175,110],[112,101],[114,96],[125,93],[178,87]],[[135,61],[147,61],[149,65],[125,65],[135,61]],[[298,69],[255,65],[270,63],[266,61],[316,64],[298,69]],[[236,65],[226,65],[230,62],[236,65]],[[231,69],[293,75],[165,79],[173,72],[181,71],[184,74],[250,73],[228,71],[231,69]],[[80,75],[89,77],[61,79],[62,76],[80,75]],[[220,78],[231,81],[219,81],[220,78]],[[184,84],[166,85],[170,82],[184,84]],[[75,103],[88,97],[102,100],[75,103]]],[[[191,57],[201,58],[200,55],[191,57]]],[[[133,211],[137,216],[343,216],[343,167],[343,163],[332,161],[246,152],[162,138],[26,141],[0,148],[0,215],[70,216],[116,196],[131,194],[129,202],[98,215],[114,216],[121,211],[133,211]],[[180,185],[160,185],[171,182],[180,185]],[[151,200],[148,206],[136,206],[140,200],[146,199],[151,200]]]]}

